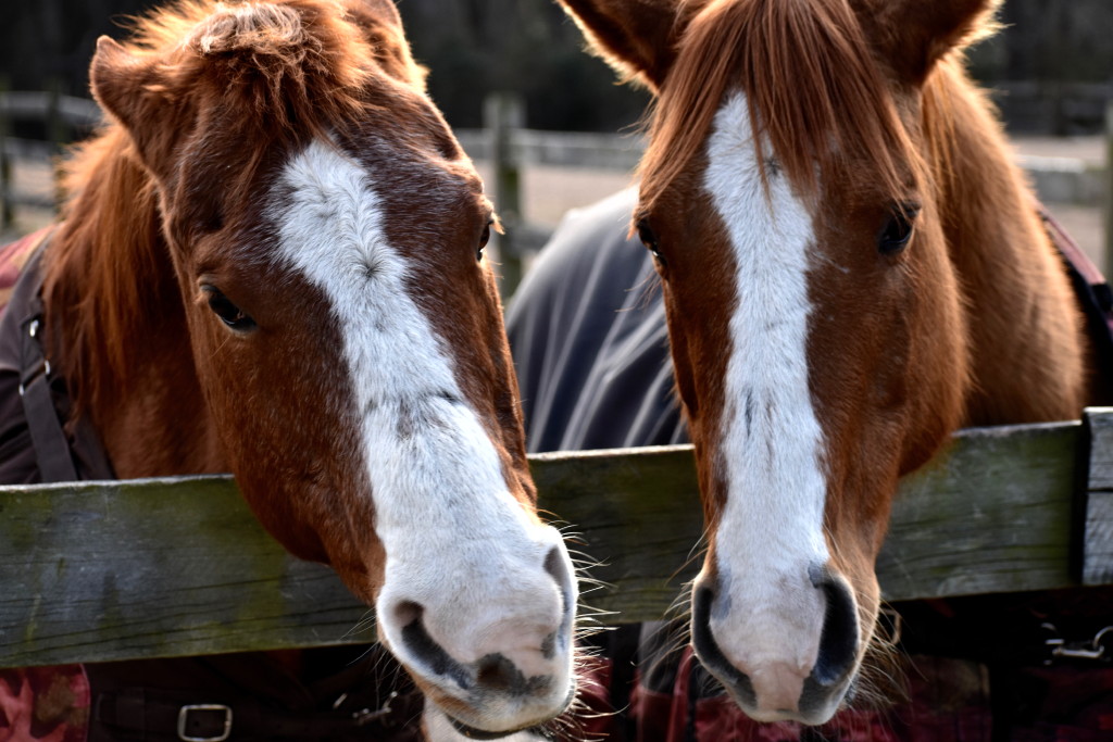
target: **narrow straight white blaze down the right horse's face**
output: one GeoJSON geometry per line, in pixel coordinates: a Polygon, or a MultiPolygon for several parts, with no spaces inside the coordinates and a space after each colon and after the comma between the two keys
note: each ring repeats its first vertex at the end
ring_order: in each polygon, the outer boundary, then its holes
{"type": "Polygon", "coordinates": [[[768,199],[746,97],[735,93],[716,115],[705,176],[738,270],[711,630],[736,665],[805,670],[818,652],[825,606],[809,572],[828,561],[823,432],[808,388],[807,269],[815,236],[787,179],[775,166],[767,172],[768,199]]]}

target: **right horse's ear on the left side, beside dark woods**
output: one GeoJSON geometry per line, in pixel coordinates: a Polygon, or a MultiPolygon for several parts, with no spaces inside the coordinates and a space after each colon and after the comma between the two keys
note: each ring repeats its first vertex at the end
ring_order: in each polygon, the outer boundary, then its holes
{"type": "Polygon", "coordinates": [[[681,0],[560,0],[592,47],[629,79],[659,91],[691,12],[681,0]]]}

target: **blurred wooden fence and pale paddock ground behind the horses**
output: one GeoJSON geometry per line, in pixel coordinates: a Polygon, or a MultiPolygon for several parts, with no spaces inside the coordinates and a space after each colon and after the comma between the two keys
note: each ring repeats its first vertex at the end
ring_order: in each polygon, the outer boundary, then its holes
{"type": "MultiPolygon", "coordinates": [[[[1014,138],[1017,160],[1040,198],[1083,249],[1113,275],[1113,100],[1104,133],[1085,137],[1014,138]]],[[[525,100],[514,92],[490,93],[484,127],[456,129],[476,160],[499,209],[505,234],[496,238],[503,288],[510,293],[530,256],[571,208],[633,182],[644,142],[637,132],[544,131],[523,126],[525,100]]],[[[1103,112],[1105,112],[1103,110],[1103,112]]],[[[66,142],[91,130],[100,111],[88,99],[55,92],[0,92],[0,236],[51,220],[59,192],[53,162],[66,142]],[[42,138],[12,136],[18,125],[37,122],[42,138]]]]}

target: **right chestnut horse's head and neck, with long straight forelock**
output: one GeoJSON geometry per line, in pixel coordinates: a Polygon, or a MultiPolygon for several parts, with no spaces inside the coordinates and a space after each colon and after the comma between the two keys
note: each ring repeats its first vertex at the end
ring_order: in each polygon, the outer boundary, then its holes
{"type": "Polygon", "coordinates": [[[996,3],[562,2],[656,93],[634,226],[703,497],[693,646],[755,719],[821,723],[898,478],[1087,394],[1064,266],[963,69],[996,3]]]}

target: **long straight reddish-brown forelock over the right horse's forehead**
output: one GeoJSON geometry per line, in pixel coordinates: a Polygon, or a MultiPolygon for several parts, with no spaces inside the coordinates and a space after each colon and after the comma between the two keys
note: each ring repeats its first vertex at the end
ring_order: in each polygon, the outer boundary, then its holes
{"type": "Polygon", "coordinates": [[[847,0],[713,0],[686,29],[658,97],[641,165],[643,208],[700,155],[733,87],[760,132],[764,182],[762,138],[806,198],[819,179],[848,182],[851,162],[865,162],[894,199],[907,187],[907,165],[894,154],[913,149],[847,0]]]}

